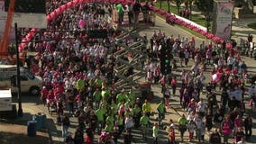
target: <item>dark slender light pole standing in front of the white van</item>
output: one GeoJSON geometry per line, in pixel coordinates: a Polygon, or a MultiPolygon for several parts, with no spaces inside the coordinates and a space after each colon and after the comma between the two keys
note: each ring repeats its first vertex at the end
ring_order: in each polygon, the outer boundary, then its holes
{"type": "Polygon", "coordinates": [[[19,42],[18,42],[18,25],[14,23],[15,27],[15,45],[16,45],[16,66],[17,66],[17,77],[16,77],[16,84],[18,88],[18,116],[23,116],[23,105],[22,105],[22,95],[21,95],[21,71],[20,71],[20,52],[19,52],[19,42]]]}

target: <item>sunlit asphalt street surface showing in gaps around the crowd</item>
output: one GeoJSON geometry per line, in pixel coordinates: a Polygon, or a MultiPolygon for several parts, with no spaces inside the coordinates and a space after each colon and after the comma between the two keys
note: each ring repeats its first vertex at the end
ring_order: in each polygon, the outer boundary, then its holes
{"type": "MultiPolygon", "coordinates": [[[[165,23],[165,21],[160,18],[156,19],[155,27],[151,27],[150,29],[140,29],[140,31],[138,31],[138,33],[142,36],[144,36],[146,34],[147,37],[150,38],[153,31],[159,31],[159,30],[164,31],[166,33],[166,35],[169,35],[169,36],[173,35],[174,37],[178,37],[178,35],[180,35],[181,37],[187,37],[188,39],[190,39],[193,36],[190,33],[188,33],[187,31],[183,31],[175,25],[171,26],[171,25],[165,23]]],[[[236,34],[239,34],[239,33],[236,32],[236,34]]],[[[246,34],[243,34],[243,37],[239,37],[239,35],[237,35],[235,37],[237,37],[238,39],[246,38],[246,34]]],[[[202,40],[204,40],[204,39],[196,38],[196,43],[199,44],[202,40]]],[[[208,41],[208,40],[205,40],[205,41],[208,41]]],[[[255,64],[256,61],[253,60],[252,58],[246,58],[246,57],[242,57],[242,59],[247,63],[250,71],[255,74],[256,73],[256,64],[255,64]]],[[[192,63],[189,62],[188,67],[182,67],[182,68],[190,69],[191,66],[192,66],[192,63]]],[[[174,75],[179,75],[180,70],[181,70],[181,67],[178,67],[178,71],[174,72],[174,75]]],[[[206,71],[206,73],[205,73],[208,81],[209,81],[209,76],[210,76],[209,72],[210,72],[210,70],[206,71]]],[[[140,81],[143,82],[144,79],[141,79],[140,81]]],[[[179,83],[179,81],[178,81],[178,83],[179,83]]],[[[151,100],[152,108],[154,109],[155,112],[157,112],[155,105],[156,105],[156,103],[159,103],[160,98],[162,97],[162,94],[160,94],[160,85],[152,85],[151,87],[152,87],[152,91],[154,92],[154,98],[151,100]]],[[[169,121],[169,119],[172,119],[172,120],[174,120],[174,122],[177,122],[178,117],[184,112],[183,109],[181,109],[181,107],[179,106],[178,95],[175,97],[171,97],[170,99],[171,99],[170,100],[170,109],[167,110],[166,118],[163,121],[164,123],[167,123],[167,121],[169,121]]],[[[14,99],[14,101],[15,101],[15,99],[14,99]]],[[[246,106],[248,108],[248,105],[246,105],[246,106]]],[[[249,109],[247,109],[246,111],[248,113],[251,113],[251,111],[249,109]]],[[[61,128],[60,128],[60,126],[58,126],[56,124],[56,115],[54,115],[54,114],[50,115],[50,113],[47,112],[47,108],[44,107],[40,103],[39,97],[32,97],[32,96],[28,96],[25,94],[23,96],[23,112],[29,113],[30,118],[31,118],[31,114],[34,114],[37,112],[45,112],[47,114],[47,118],[48,118],[46,126],[49,130],[51,139],[53,139],[54,143],[61,143],[61,141],[63,141],[63,138],[61,138],[61,128]]],[[[255,129],[256,115],[255,114],[254,115],[251,114],[251,115],[253,117],[253,125],[254,125],[252,134],[253,133],[255,134],[256,133],[256,129],[255,129]]],[[[151,121],[156,121],[156,118],[157,118],[157,114],[154,114],[153,116],[151,116],[151,121]]],[[[69,128],[69,131],[74,134],[74,131],[78,125],[77,118],[71,117],[70,121],[71,121],[71,126],[69,128]]],[[[96,136],[96,138],[97,138],[97,136],[96,136]]],[[[180,140],[178,130],[176,130],[176,139],[178,141],[180,140]]],[[[187,132],[185,134],[185,139],[187,141],[187,132]]],[[[97,139],[95,139],[95,141],[96,140],[97,139]]],[[[208,133],[206,132],[206,141],[207,140],[208,140],[208,133]]],[[[160,144],[166,143],[166,141],[167,141],[167,136],[166,136],[165,130],[160,130],[159,143],[160,144]]],[[[229,141],[233,142],[233,138],[231,138],[229,141]]],[[[253,135],[251,137],[251,141],[248,143],[253,143],[254,141],[256,141],[256,138],[253,135]]],[[[119,140],[119,142],[123,143],[122,137],[119,140]]],[[[140,129],[133,130],[133,143],[140,143],[140,144],[152,143],[151,131],[149,132],[148,139],[145,140],[145,139],[142,139],[142,132],[140,129]]],[[[183,142],[183,143],[187,143],[187,142],[183,142]]],[[[197,142],[197,140],[195,140],[194,142],[191,142],[191,143],[198,143],[198,142],[197,142]]]]}

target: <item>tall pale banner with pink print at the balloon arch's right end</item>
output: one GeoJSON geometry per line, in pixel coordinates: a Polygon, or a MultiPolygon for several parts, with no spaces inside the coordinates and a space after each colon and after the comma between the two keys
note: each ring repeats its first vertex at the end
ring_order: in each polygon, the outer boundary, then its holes
{"type": "Polygon", "coordinates": [[[217,2],[215,35],[229,41],[231,39],[233,2],[217,2]]]}

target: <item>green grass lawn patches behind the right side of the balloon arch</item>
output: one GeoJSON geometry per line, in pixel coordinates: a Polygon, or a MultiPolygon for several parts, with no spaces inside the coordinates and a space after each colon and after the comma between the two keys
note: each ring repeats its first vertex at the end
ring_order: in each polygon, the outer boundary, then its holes
{"type": "MultiPolygon", "coordinates": [[[[155,7],[160,8],[160,2],[155,3],[155,7]]],[[[163,9],[165,11],[168,11],[168,4],[167,4],[166,1],[162,2],[161,9],[163,9]]],[[[180,9],[182,9],[182,8],[180,8],[180,9]]],[[[170,10],[170,13],[172,13],[172,14],[178,14],[177,7],[175,5],[173,5],[173,4],[170,4],[169,10],[170,10]]],[[[161,15],[159,15],[159,16],[162,17],[161,15]]],[[[164,17],[162,17],[162,18],[164,18],[164,17]]],[[[192,14],[191,15],[191,20],[193,22],[199,24],[199,25],[202,25],[202,26],[206,25],[205,18],[202,17],[200,14],[192,14]]],[[[178,26],[178,27],[183,29],[183,30],[185,30],[185,31],[190,32],[191,34],[197,36],[198,38],[202,38],[202,39],[206,38],[205,36],[202,36],[201,34],[198,34],[197,32],[192,31],[192,30],[188,29],[187,27],[184,27],[184,26],[178,26]]]]}

